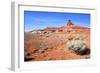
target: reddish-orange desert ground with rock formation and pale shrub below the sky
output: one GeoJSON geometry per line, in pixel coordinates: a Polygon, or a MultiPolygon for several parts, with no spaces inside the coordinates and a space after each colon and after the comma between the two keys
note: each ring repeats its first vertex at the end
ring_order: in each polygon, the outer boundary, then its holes
{"type": "Polygon", "coordinates": [[[69,21],[65,26],[25,32],[24,48],[25,62],[89,59],[90,28],[69,21]]]}

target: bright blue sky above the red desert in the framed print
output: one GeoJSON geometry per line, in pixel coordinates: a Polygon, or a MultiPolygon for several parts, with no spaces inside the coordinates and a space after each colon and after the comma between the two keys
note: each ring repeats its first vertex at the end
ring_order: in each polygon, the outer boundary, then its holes
{"type": "Polygon", "coordinates": [[[25,31],[61,27],[71,20],[74,25],[90,27],[90,14],[24,11],[25,31]]]}

